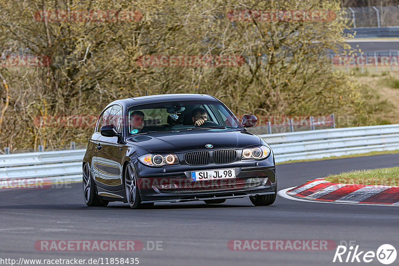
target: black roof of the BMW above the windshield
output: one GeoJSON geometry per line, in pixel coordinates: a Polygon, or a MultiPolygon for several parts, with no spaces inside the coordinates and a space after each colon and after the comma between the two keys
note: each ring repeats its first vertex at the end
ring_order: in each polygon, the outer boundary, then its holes
{"type": "Polygon", "coordinates": [[[148,96],[140,96],[140,97],[116,100],[110,103],[107,107],[115,104],[120,104],[125,107],[130,107],[134,105],[152,104],[159,102],[191,101],[191,100],[218,101],[215,97],[207,94],[191,94],[191,93],[159,94],[159,95],[148,95],[148,96]]]}

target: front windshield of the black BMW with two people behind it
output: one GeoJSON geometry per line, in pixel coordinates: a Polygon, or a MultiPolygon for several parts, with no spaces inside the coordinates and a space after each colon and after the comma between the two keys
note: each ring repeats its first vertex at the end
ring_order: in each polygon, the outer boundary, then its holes
{"type": "Polygon", "coordinates": [[[134,106],[128,110],[128,121],[131,135],[197,128],[242,128],[235,116],[216,101],[176,101],[134,106]]]}

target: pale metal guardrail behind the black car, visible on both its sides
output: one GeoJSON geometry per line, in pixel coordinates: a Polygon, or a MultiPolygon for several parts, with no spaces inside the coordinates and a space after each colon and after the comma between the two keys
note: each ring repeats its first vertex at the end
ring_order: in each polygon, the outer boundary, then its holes
{"type": "MultiPolygon", "coordinates": [[[[399,149],[399,124],[259,135],[272,147],[277,162],[399,149]]],[[[82,179],[85,149],[0,155],[1,180],[82,179]]]]}

